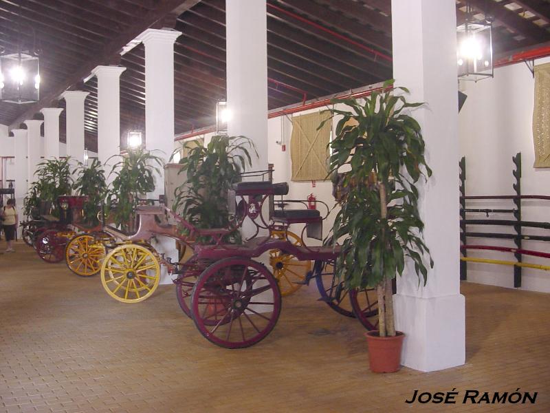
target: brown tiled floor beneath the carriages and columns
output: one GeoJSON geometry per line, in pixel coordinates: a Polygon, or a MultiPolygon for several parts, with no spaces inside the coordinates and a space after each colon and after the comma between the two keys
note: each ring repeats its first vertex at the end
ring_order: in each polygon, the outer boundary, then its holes
{"type": "Polygon", "coordinates": [[[549,295],[463,284],[465,366],[373,374],[358,321],[316,301],[314,286],[285,298],[259,345],[225,350],[199,335],[172,286],[122,304],[98,276],[17,249],[0,255],[0,412],[550,412],[549,295]],[[453,388],[456,404],[404,403],[453,388]],[[537,403],[460,403],[465,390],[517,388],[537,403]]]}

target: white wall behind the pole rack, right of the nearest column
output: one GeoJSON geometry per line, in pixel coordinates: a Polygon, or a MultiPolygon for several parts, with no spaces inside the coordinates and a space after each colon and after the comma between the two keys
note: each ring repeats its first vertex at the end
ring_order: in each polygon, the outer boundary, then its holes
{"type": "MultiPolygon", "coordinates": [[[[536,64],[547,63],[540,59],[536,64]]],[[[511,157],[522,154],[522,194],[550,195],[550,169],[534,169],[531,132],[534,79],[523,63],[495,70],[494,78],[467,82],[463,90],[467,100],[459,115],[461,156],[466,158],[467,195],[511,195],[514,164],[511,157]]],[[[442,137],[444,138],[444,137],[442,137]]],[[[467,202],[470,208],[513,208],[511,201],[467,202]]],[[[458,206],[457,206],[458,208],[458,206]]],[[[485,218],[483,213],[469,213],[468,218],[485,218]]],[[[513,220],[511,214],[492,214],[489,218],[513,220]]],[[[550,201],[522,202],[522,220],[550,222],[550,201]]],[[[500,226],[468,226],[468,231],[513,232],[500,226]]],[[[550,230],[527,229],[532,235],[550,235],[550,230]]],[[[511,240],[468,238],[468,244],[514,246],[511,240]]],[[[524,241],[522,248],[550,251],[550,242],[524,241]]],[[[515,261],[512,253],[469,250],[472,257],[515,261]]],[[[549,259],[524,255],[524,262],[550,265],[549,259]]],[[[467,264],[471,282],[513,288],[514,267],[494,264],[467,264]]],[[[550,292],[550,273],[533,268],[522,269],[522,289],[550,292]]]]}

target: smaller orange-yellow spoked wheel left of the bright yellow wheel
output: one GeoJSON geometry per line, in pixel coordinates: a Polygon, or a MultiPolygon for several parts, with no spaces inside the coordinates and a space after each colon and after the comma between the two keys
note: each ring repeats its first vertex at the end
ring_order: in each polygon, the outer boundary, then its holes
{"type": "Polygon", "coordinates": [[[92,235],[77,235],[67,244],[65,261],[69,270],[80,277],[96,275],[105,257],[105,247],[92,235]]]}

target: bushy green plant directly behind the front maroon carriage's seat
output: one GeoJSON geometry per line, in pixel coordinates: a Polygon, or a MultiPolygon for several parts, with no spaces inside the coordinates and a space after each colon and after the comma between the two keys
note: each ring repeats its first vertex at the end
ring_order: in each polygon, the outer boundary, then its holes
{"type": "MultiPolygon", "coordinates": [[[[251,165],[250,151],[258,155],[252,140],[244,136],[212,136],[206,147],[184,145],[184,149],[188,156],[179,160],[179,173],[186,173],[186,182],[175,189],[174,211],[181,211],[197,228],[228,226],[228,190],[251,165]]],[[[235,236],[236,233],[234,242],[235,236]]]]}

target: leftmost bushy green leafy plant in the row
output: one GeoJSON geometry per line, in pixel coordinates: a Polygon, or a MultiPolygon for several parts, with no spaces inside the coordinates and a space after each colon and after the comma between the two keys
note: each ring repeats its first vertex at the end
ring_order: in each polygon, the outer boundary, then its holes
{"type": "Polygon", "coordinates": [[[40,202],[52,202],[52,213],[56,215],[56,200],[61,195],[70,195],[72,176],[69,158],[47,159],[40,162],[24,201],[25,214],[30,215],[33,208],[39,208],[40,202]]]}

